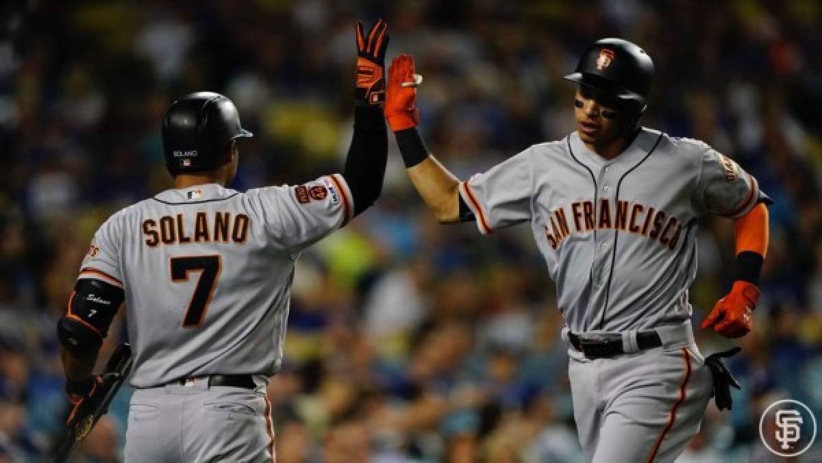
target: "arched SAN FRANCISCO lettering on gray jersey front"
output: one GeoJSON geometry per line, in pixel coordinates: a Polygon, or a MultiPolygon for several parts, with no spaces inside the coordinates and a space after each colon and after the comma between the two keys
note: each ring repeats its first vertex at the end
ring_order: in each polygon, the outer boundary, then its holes
{"type": "Polygon", "coordinates": [[[609,199],[600,198],[596,207],[593,201],[576,201],[570,204],[568,215],[565,207],[567,206],[554,209],[548,215],[547,224],[543,225],[545,237],[552,249],[558,248],[571,233],[566,218],[568,216],[574,219],[575,233],[616,229],[656,240],[669,249],[677,248],[682,231],[677,217],[639,202],[617,201],[617,204],[612,205],[609,199]]]}

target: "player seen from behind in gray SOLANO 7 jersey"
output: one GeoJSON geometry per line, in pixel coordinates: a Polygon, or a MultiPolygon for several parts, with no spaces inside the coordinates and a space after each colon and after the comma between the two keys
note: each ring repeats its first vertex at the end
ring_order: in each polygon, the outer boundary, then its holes
{"type": "Polygon", "coordinates": [[[237,192],[242,128],[232,102],[199,92],[163,119],[174,187],[100,226],[58,322],[68,395],[93,394],[120,304],[134,352],[126,461],[274,461],[267,377],[282,358],[294,262],[379,197],[388,35],[358,44],[354,132],[342,174],[237,192]]]}

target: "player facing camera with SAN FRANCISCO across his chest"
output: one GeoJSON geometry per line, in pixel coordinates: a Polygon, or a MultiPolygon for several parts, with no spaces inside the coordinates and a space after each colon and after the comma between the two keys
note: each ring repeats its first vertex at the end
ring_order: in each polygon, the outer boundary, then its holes
{"type": "Polygon", "coordinates": [[[732,219],[737,238],[736,281],[703,327],[743,336],[760,295],[769,200],[755,178],[702,141],[639,125],[653,81],[640,47],[599,40],[566,78],[578,84],[576,131],[465,181],[419,137],[413,104],[421,78],[409,56],[390,67],[385,115],[438,220],[475,220],[482,234],[520,223],[533,230],[566,321],[586,458],[674,461],[699,430],[713,388],[724,407],[735,384],[720,374],[721,361],[706,363],[691,331],[699,219],[732,219]]]}

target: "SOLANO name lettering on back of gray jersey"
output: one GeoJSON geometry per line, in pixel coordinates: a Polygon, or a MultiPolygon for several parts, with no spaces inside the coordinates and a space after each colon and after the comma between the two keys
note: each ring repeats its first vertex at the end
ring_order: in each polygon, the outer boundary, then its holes
{"type": "MultiPolygon", "coordinates": [[[[246,243],[251,219],[245,214],[197,212],[194,229],[186,229],[186,217],[182,214],[163,215],[159,219],[143,220],[145,245],[154,248],[158,244],[187,243],[246,243]]],[[[189,221],[190,223],[190,221],[189,221]]]]}

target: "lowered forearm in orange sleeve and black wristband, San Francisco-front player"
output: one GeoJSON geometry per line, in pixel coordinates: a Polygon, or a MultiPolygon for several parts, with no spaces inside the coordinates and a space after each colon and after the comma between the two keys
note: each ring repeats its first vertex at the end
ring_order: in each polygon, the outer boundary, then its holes
{"type": "Polygon", "coordinates": [[[764,257],[768,252],[768,208],[760,203],[734,220],[737,248],[735,280],[759,283],[764,257]]]}

